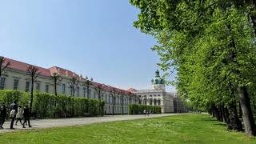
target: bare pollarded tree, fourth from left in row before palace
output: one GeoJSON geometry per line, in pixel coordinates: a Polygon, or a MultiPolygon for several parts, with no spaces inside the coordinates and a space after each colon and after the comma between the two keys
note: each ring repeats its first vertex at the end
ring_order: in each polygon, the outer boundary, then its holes
{"type": "Polygon", "coordinates": [[[73,74],[72,78],[70,78],[70,94],[73,97],[72,98],[72,117],[74,117],[74,94],[75,91],[78,90],[78,78],[76,74],[73,74]]]}

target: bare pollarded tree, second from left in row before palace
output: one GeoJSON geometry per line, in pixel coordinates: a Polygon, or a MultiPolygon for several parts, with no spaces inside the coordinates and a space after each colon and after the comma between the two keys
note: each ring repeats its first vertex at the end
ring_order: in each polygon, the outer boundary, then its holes
{"type": "Polygon", "coordinates": [[[28,66],[27,67],[27,75],[30,77],[30,82],[31,82],[31,91],[30,91],[30,113],[32,113],[32,106],[33,106],[33,99],[34,99],[34,82],[37,82],[38,80],[38,75],[40,72],[38,72],[38,67],[36,66],[28,66]]]}

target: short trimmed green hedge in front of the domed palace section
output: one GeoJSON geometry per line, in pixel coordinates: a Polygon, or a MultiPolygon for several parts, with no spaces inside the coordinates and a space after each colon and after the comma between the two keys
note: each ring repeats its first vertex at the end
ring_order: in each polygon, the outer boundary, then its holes
{"type": "Polygon", "coordinates": [[[153,114],[161,114],[161,107],[160,106],[145,106],[145,105],[129,105],[129,114],[143,114],[143,110],[147,112],[152,110],[153,114]]]}

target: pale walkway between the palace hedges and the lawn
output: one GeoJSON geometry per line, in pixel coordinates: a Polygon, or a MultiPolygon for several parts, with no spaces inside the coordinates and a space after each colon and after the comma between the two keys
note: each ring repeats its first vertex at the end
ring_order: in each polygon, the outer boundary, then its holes
{"type": "MultiPolygon", "coordinates": [[[[65,126],[82,126],[89,125],[92,123],[100,122],[114,122],[114,121],[124,121],[124,120],[134,120],[134,119],[143,119],[143,118],[158,118],[165,117],[170,115],[178,114],[153,114],[150,117],[145,117],[144,115],[115,115],[115,116],[104,116],[98,118],[62,118],[62,119],[42,119],[42,120],[32,120],[32,128],[22,129],[21,124],[18,122],[18,126],[14,126],[15,130],[10,130],[10,122],[4,124],[3,130],[0,130],[0,133],[13,132],[17,130],[37,130],[53,127],[65,127],[65,126]]],[[[28,127],[28,126],[27,126],[28,127]]]]}

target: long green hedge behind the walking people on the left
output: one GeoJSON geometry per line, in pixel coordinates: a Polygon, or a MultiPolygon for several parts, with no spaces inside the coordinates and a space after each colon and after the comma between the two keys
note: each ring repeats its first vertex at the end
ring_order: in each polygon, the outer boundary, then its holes
{"type": "MultiPolygon", "coordinates": [[[[5,102],[6,106],[9,107],[14,100],[18,102],[18,105],[29,105],[30,94],[19,90],[0,90],[0,102],[5,102]]],[[[73,114],[74,106],[73,117],[83,117],[86,114],[88,116],[102,116],[104,105],[104,102],[98,102],[94,99],[35,92],[32,113],[37,114],[38,118],[69,118],[73,114]],[[99,110],[98,106],[100,106],[99,110]]],[[[8,114],[10,114],[9,111],[8,114]]]]}

